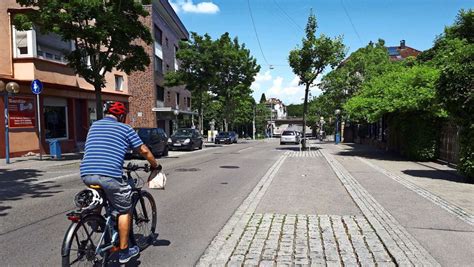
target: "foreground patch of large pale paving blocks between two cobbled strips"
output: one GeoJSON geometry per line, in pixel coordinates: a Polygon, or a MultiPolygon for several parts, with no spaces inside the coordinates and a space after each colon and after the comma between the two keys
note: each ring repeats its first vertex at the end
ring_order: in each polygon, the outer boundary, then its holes
{"type": "Polygon", "coordinates": [[[227,266],[395,266],[363,216],[254,214],[227,266]]]}

